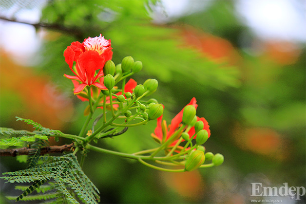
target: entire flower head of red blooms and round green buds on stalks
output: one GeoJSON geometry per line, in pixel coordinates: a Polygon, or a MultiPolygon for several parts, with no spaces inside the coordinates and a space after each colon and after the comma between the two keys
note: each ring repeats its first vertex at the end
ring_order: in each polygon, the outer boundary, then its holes
{"type": "MultiPolygon", "coordinates": [[[[202,145],[210,137],[210,126],[205,118],[196,115],[198,105],[195,98],[192,98],[167,126],[167,122],[162,120],[164,106],[156,99],[143,99],[157,90],[158,81],[147,79],[138,85],[132,78],[127,81],[127,78],[141,71],[142,62],[134,61],[132,56],[126,56],[121,63],[115,65],[111,60],[112,55],[111,41],[101,35],[88,37],[83,43],[73,42],[64,52],[65,61],[75,74],[64,76],[73,81],[76,96],[82,101],[89,102],[84,111],[85,115],[89,115],[88,120],[79,136],[85,136],[85,129],[96,109],[102,109],[102,114],[96,118],[93,131],[87,135],[83,147],[94,139],[119,135],[128,127],[143,125],[157,119],[157,127],[152,137],[160,146],[136,152],[131,158],[138,158],[139,162],[157,169],[160,168],[144,162],[143,159],[159,164],[184,166],[181,171],[219,166],[223,163],[224,158],[221,154],[205,153],[202,145]],[[111,112],[108,117],[107,110],[111,112]],[[103,123],[96,129],[95,126],[101,118],[103,123]],[[114,128],[108,129],[109,126],[114,128]],[[124,129],[120,130],[122,127],[124,129]],[[166,155],[157,157],[159,152],[165,152],[166,155]],[[150,153],[150,156],[143,155],[147,153],[150,153]],[[204,164],[205,161],[211,163],[204,164]]],[[[127,154],[124,156],[128,157],[127,154]]],[[[168,168],[162,170],[171,171],[168,168]]]]}

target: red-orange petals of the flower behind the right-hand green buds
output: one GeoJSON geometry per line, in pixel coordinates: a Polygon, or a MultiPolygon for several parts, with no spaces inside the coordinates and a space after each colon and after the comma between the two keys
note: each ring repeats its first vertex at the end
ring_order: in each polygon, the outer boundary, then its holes
{"type": "MultiPolygon", "coordinates": [[[[188,105],[193,105],[195,108],[198,107],[198,105],[196,104],[196,99],[193,97],[190,101],[189,104],[187,104],[186,106],[188,105]]],[[[185,107],[186,107],[185,106],[185,107]]],[[[185,108],[184,107],[184,108],[185,108]]],[[[182,111],[180,111],[171,121],[171,125],[168,126],[167,128],[167,123],[165,120],[162,121],[162,118],[163,118],[163,115],[160,116],[159,118],[157,118],[157,126],[154,130],[154,133],[152,133],[152,137],[159,143],[163,143],[163,137],[165,137],[165,141],[166,142],[172,135],[173,133],[179,129],[181,126],[182,126],[182,118],[183,118],[183,111],[184,111],[184,108],[182,109],[182,111]],[[163,128],[164,128],[164,133],[163,133],[163,128]]],[[[210,126],[208,125],[208,122],[206,121],[205,118],[203,117],[198,117],[197,116],[197,121],[202,121],[203,124],[204,124],[204,128],[203,130],[207,130],[208,132],[208,136],[210,137],[210,126]]],[[[194,130],[194,127],[192,127],[188,134],[189,134],[189,137],[191,138],[192,135],[195,133],[195,130],[194,130]]],[[[196,135],[195,137],[196,138],[196,135]]],[[[175,140],[170,146],[174,146],[176,143],[177,143],[178,140],[175,140]]],[[[184,141],[184,140],[183,140],[184,141]]]]}

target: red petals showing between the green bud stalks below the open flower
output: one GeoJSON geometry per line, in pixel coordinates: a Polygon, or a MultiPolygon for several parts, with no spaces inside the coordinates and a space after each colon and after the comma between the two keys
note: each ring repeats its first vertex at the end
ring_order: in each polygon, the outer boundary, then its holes
{"type": "MultiPolygon", "coordinates": [[[[103,79],[104,77],[100,78],[101,80],[101,84],[103,84],[103,79]]],[[[77,81],[73,81],[73,84],[75,86],[75,88],[78,86],[78,82],[77,81]]],[[[104,85],[103,85],[104,86],[104,85]]],[[[127,93],[127,92],[130,92],[130,93],[133,93],[133,89],[137,86],[137,82],[134,80],[134,79],[130,79],[124,86],[124,92],[127,93]]],[[[100,94],[100,90],[98,90],[98,95],[100,94]]],[[[87,93],[85,91],[82,91],[81,93],[83,93],[82,95],[87,95],[87,93]]],[[[93,93],[92,93],[93,94],[93,93]]],[[[121,95],[122,92],[118,92],[116,93],[116,95],[121,95]]],[[[79,99],[81,99],[82,101],[88,101],[88,98],[85,98],[83,96],[81,96],[81,94],[79,95],[76,95],[76,97],[78,97],[79,99]]],[[[116,96],[113,96],[113,99],[115,99],[116,96]]],[[[106,97],[106,103],[110,103],[110,96],[107,96],[106,97]]],[[[118,108],[119,105],[118,104],[114,104],[113,105],[114,108],[118,108]]],[[[100,103],[98,104],[98,108],[101,108],[103,109],[103,103],[100,103]]]]}

